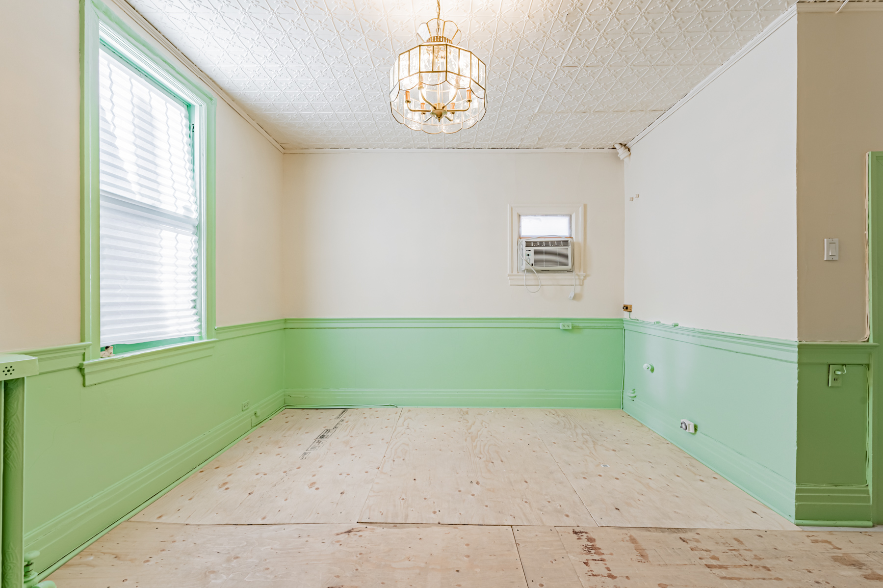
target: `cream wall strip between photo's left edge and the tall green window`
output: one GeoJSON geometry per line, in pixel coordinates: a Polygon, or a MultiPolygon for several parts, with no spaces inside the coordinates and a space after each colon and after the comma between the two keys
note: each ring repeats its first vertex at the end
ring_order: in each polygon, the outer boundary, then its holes
{"type": "Polygon", "coordinates": [[[0,350],[76,343],[79,5],[4,3],[0,22],[0,350]]]}

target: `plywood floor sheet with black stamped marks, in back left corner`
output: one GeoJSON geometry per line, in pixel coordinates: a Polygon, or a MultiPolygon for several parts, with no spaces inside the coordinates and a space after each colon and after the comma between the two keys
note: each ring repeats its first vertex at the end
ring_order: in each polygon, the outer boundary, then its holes
{"type": "Polygon", "coordinates": [[[400,411],[282,411],[132,520],[355,523],[400,411]]]}

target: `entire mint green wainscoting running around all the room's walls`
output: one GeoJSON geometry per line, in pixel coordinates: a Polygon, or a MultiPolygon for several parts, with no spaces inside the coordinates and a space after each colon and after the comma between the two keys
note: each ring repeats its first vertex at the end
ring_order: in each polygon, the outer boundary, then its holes
{"type": "Polygon", "coordinates": [[[26,548],[44,574],[283,405],[624,407],[798,524],[874,520],[872,343],[620,319],[287,319],[118,367],[83,362],[87,347],[26,351],[41,366],[26,548]],[[841,388],[827,386],[832,364],[847,366],[841,388]]]}

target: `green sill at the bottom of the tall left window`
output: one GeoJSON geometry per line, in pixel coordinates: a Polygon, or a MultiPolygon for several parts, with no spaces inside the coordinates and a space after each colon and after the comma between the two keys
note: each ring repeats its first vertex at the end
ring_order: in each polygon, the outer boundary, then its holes
{"type": "Polygon", "coordinates": [[[109,358],[91,359],[79,365],[83,372],[83,386],[94,386],[105,381],[126,378],[136,373],[150,372],[162,367],[182,364],[193,359],[208,358],[215,352],[216,339],[179,343],[132,351],[109,358]]]}

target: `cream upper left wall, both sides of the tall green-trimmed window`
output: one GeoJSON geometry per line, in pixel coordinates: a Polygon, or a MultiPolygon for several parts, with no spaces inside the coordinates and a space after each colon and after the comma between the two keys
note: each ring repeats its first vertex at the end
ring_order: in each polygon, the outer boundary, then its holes
{"type": "MultiPolygon", "coordinates": [[[[78,3],[5,5],[0,50],[0,351],[76,343],[78,3]]],[[[281,318],[282,155],[222,101],[217,121],[217,323],[281,318]]]]}

